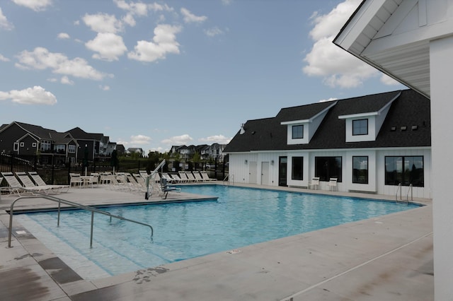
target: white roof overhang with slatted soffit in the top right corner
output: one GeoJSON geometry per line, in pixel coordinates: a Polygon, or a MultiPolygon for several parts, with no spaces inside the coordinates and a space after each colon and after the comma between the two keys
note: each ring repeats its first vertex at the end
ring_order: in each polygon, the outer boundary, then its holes
{"type": "Polygon", "coordinates": [[[430,98],[430,40],[453,24],[428,16],[425,0],[365,0],[333,43],[430,98]]]}

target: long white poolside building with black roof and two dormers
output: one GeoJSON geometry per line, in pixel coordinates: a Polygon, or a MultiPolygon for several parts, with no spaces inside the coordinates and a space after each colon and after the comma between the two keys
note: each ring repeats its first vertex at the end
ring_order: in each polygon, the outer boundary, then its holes
{"type": "Polygon", "coordinates": [[[224,153],[235,182],[308,187],[319,177],[328,190],[336,178],[339,191],[430,198],[430,135],[430,101],[402,90],[249,120],[224,153]]]}

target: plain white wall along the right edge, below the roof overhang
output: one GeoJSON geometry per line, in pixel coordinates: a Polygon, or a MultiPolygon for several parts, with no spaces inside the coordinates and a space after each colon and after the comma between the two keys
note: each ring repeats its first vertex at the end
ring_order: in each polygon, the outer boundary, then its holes
{"type": "MultiPolygon", "coordinates": [[[[449,1],[452,20],[453,1],[449,1]]],[[[450,28],[452,30],[452,28],[450,28]]],[[[453,300],[453,37],[430,42],[435,300],[453,300]]]]}

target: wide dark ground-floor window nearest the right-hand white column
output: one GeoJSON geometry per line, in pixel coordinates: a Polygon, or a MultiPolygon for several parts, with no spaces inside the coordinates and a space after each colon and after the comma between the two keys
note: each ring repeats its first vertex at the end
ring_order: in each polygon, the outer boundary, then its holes
{"type": "Polygon", "coordinates": [[[385,184],[424,187],[423,155],[385,157],[385,184]]]}

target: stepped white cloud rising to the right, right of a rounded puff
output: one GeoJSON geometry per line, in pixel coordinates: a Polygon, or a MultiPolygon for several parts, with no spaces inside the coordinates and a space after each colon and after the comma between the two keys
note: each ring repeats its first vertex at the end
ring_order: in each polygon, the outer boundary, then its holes
{"type": "Polygon", "coordinates": [[[159,24],[154,28],[153,42],[138,41],[133,52],[127,57],[137,61],[156,61],[165,59],[166,54],[179,54],[179,43],[176,42],[176,34],[182,30],[180,26],[159,24]]]}

